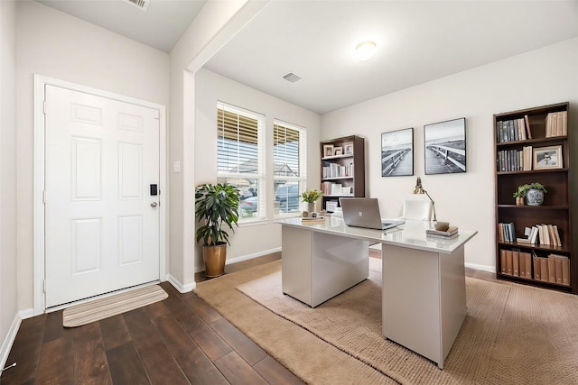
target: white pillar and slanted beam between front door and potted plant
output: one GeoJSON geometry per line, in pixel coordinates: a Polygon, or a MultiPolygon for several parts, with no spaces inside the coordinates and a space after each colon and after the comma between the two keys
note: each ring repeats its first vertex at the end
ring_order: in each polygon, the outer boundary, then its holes
{"type": "Polygon", "coordinates": [[[210,1],[171,51],[170,280],[194,289],[194,72],[235,35],[268,1],[210,1]],[[174,171],[174,163],[180,170],[174,171]]]}

